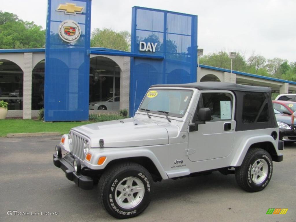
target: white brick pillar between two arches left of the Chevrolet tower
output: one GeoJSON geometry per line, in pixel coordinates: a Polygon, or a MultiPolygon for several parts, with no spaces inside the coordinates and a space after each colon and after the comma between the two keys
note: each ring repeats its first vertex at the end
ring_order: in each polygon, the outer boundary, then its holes
{"type": "Polygon", "coordinates": [[[32,60],[33,53],[24,53],[24,79],[23,79],[23,96],[22,96],[22,118],[31,119],[31,99],[32,99],[32,60]]]}

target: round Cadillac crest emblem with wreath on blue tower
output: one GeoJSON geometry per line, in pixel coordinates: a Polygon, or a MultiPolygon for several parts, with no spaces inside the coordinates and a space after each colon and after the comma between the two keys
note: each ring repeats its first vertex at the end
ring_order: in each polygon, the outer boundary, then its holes
{"type": "Polygon", "coordinates": [[[66,42],[76,41],[80,34],[80,26],[73,20],[65,20],[59,25],[59,36],[66,42]]]}

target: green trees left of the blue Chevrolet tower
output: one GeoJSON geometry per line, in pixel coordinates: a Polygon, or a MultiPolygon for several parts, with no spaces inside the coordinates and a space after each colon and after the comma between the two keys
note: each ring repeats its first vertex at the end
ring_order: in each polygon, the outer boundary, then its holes
{"type": "Polygon", "coordinates": [[[34,22],[0,11],[0,49],[44,48],[45,30],[34,22]]]}

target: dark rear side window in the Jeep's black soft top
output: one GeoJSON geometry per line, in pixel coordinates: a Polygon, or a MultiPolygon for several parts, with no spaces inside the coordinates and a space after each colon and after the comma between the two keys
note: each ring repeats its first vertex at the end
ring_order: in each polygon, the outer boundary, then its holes
{"type": "Polygon", "coordinates": [[[268,103],[265,94],[245,94],[243,99],[242,122],[267,122],[269,120],[268,103]]]}

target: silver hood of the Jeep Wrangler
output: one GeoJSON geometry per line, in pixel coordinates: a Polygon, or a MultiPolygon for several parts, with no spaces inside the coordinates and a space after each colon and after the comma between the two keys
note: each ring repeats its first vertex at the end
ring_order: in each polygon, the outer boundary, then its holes
{"type": "Polygon", "coordinates": [[[136,147],[168,144],[168,132],[163,126],[145,120],[133,118],[92,123],[72,129],[91,139],[91,147],[136,147]]]}

